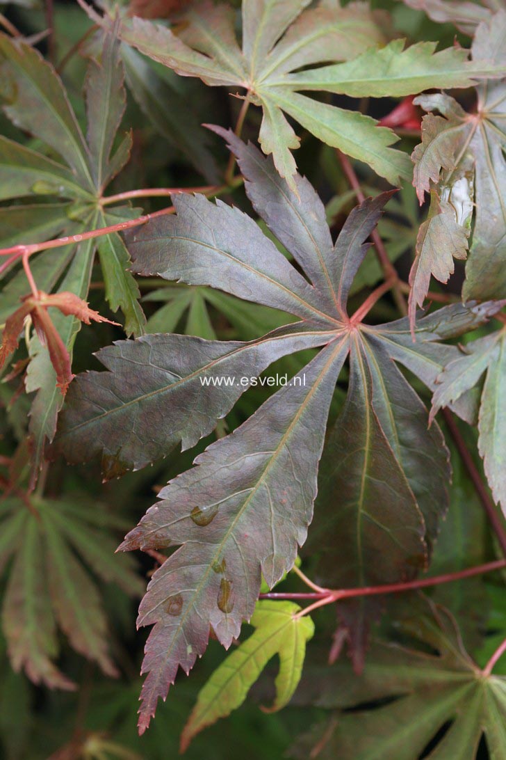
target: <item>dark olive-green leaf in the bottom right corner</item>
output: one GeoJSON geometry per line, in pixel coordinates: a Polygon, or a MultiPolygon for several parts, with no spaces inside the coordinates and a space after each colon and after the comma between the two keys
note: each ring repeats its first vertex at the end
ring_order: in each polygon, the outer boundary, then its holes
{"type": "Polygon", "coordinates": [[[291,757],[412,760],[430,747],[431,760],[477,760],[483,735],[491,760],[504,757],[506,679],[482,673],[451,615],[426,606],[398,623],[413,643],[377,641],[360,678],[339,660],[327,666],[325,689],[308,685],[320,705],[341,709],[300,737],[291,757]]]}

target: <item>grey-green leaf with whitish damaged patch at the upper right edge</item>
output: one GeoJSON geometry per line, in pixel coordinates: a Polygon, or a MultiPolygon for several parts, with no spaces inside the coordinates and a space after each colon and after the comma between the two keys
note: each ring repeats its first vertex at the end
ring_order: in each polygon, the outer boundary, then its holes
{"type": "MultiPolygon", "coordinates": [[[[473,58],[488,55],[506,74],[506,11],[476,30],[473,58]]],[[[422,144],[413,152],[413,184],[420,202],[431,192],[429,219],[420,228],[410,273],[410,318],[429,290],[430,275],[446,282],[454,258],[467,258],[471,217],[475,222],[466,266],[464,299],[504,298],[506,161],[504,160],[505,80],[480,84],[476,114],[467,114],[451,97],[416,100],[430,112],[423,119],[422,144]],[[476,188],[476,204],[473,202],[476,188]],[[474,211],[473,211],[474,210],[474,211]]]]}

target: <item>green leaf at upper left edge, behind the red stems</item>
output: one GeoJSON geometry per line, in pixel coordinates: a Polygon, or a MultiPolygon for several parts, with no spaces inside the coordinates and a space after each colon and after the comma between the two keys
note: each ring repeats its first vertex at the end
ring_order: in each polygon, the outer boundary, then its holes
{"type": "MultiPolygon", "coordinates": [[[[2,208],[2,244],[38,242],[58,234],[79,235],[135,215],[128,208],[103,210],[98,204],[105,186],[126,163],[131,142],[130,135],[126,135],[113,150],[125,106],[123,68],[113,36],[105,38],[101,60],[91,60],[87,71],[86,138],[58,75],[39,52],[0,35],[0,71],[7,116],[18,127],[36,135],[51,154],[58,154],[64,162],[0,138],[2,200],[22,197],[36,201],[2,208]],[[42,199],[46,202],[41,204],[42,199]]],[[[37,286],[50,292],[59,283],[58,290],[69,290],[86,299],[97,246],[109,305],[113,311],[121,308],[124,312],[127,334],[142,334],[146,320],[138,303],[139,290],[127,271],[130,259],[116,233],[102,237],[98,244],[87,240],[33,257],[30,264],[37,286]]],[[[27,287],[24,271],[14,273],[2,290],[2,321],[17,308],[27,287]]],[[[80,322],[61,316],[55,321],[71,353],[80,322]]],[[[55,435],[63,398],[56,387],[47,348],[36,338],[30,343],[30,356],[34,361],[28,371],[27,391],[37,391],[29,426],[34,483],[46,442],[55,435]]]]}

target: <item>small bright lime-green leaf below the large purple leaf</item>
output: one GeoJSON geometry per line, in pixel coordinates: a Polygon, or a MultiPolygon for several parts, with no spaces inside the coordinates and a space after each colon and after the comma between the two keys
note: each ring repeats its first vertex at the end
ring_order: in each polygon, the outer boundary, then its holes
{"type": "Polygon", "coordinates": [[[193,736],[243,704],[251,686],[276,654],[279,657],[276,698],[267,711],[288,705],[300,680],[306,641],[314,633],[313,621],[309,617],[297,618],[298,612],[300,607],[291,602],[256,603],[250,620],[255,632],[228,655],[200,690],[181,734],[181,752],[187,749],[193,736]]]}

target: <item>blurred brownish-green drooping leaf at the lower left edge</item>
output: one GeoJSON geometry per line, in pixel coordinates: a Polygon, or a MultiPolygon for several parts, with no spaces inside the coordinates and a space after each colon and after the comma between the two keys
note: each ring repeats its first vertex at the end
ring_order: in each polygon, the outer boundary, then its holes
{"type": "Polygon", "coordinates": [[[2,570],[11,562],[2,626],[12,667],[22,668],[35,683],[74,689],[74,683],[54,664],[60,649],[58,626],[77,652],[115,676],[99,588],[81,559],[103,581],[120,584],[132,596],[142,594],[142,581],[131,562],[116,562],[114,568],[110,562],[97,562],[95,547],[107,556],[114,540],[106,532],[107,520],[105,530],[88,524],[89,504],[37,499],[31,510],[11,497],[2,502],[0,515],[2,570]]]}

